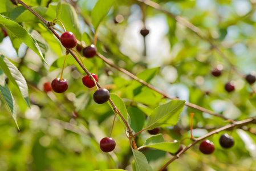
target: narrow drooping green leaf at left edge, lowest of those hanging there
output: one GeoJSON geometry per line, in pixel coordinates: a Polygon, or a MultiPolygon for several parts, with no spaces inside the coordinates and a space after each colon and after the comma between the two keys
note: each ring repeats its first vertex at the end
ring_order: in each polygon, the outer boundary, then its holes
{"type": "Polygon", "coordinates": [[[17,123],[17,113],[16,113],[16,104],[15,100],[13,98],[13,95],[10,92],[10,89],[7,87],[7,84],[5,83],[5,86],[0,85],[0,93],[3,97],[3,100],[5,101],[7,107],[9,108],[11,115],[13,116],[13,119],[19,129],[18,123],[17,123]]]}

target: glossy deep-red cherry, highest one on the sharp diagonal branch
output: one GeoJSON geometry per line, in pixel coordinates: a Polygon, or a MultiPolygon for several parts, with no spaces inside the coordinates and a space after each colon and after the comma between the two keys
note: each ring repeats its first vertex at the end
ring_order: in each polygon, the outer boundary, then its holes
{"type": "Polygon", "coordinates": [[[74,48],[77,40],[72,32],[66,31],[60,36],[60,42],[65,48],[74,48]]]}

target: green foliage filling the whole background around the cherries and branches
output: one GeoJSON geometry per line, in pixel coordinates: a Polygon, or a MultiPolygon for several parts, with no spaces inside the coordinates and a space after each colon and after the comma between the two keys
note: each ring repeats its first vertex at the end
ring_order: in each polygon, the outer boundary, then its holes
{"type": "MultiPolygon", "coordinates": [[[[43,91],[44,83],[59,78],[66,49],[50,24],[12,2],[0,6],[0,27],[8,35],[0,32],[1,170],[159,170],[180,144],[193,143],[189,113],[196,139],[255,116],[255,86],[245,80],[256,64],[253,1],[24,0],[46,21],[62,22],[84,47],[96,43],[110,62],[100,56],[82,61],[111,92],[123,118],[111,103],[94,102],[96,88],[83,85],[85,73],[70,54],[63,75],[68,90],[43,91]],[[143,27],[150,30],[145,39],[143,27]],[[224,70],[217,78],[211,70],[218,64],[224,70]],[[231,80],[235,91],[228,93],[224,86],[231,80]],[[188,102],[196,106],[184,107],[188,102]],[[127,127],[139,150],[129,143],[127,127]],[[160,134],[149,135],[156,127],[160,134]],[[116,148],[101,152],[99,142],[110,133],[116,148]]],[[[52,27],[62,34],[58,22],[52,27]]],[[[231,149],[218,143],[224,132],[213,133],[213,154],[200,153],[195,144],[167,168],[253,170],[254,129],[250,123],[225,130],[235,141],[231,149]]]]}

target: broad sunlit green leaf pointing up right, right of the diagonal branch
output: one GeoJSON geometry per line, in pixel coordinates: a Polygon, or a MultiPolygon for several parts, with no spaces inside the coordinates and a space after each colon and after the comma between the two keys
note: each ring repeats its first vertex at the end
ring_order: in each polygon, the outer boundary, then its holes
{"type": "Polygon", "coordinates": [[[156,127],[172,127],[178,123],[184,108],[184,100],[172,100],[157,107],[149,116],[147,129],[156,127]]]}

